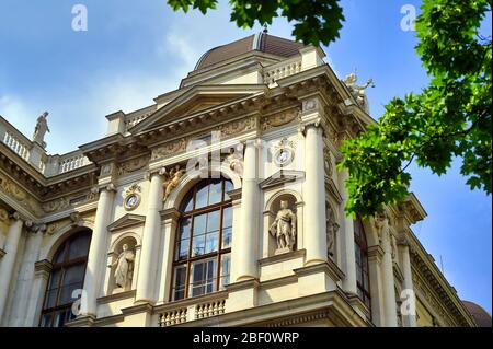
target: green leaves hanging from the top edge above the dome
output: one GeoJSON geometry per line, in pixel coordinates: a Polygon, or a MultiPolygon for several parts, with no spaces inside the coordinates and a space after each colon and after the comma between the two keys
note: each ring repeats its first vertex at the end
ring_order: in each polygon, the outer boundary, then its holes
{"type": "MultiPolygon", "coordinates": [[[[344,15],[339,0],[230,0],[231,21],[240,27],[272,24],[277,16],[295,22],[293,35],[305,44],[329,45],[339,37],[344,15]]],[[[217,8],[217,0],[168,0],[173,10],[202,13],[217,8]]]]}

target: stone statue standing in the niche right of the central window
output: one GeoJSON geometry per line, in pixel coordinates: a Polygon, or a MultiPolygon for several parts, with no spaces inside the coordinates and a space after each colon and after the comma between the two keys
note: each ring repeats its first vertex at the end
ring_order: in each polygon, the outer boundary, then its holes
{"type": "Polygon", "coordinates": [[[270,231],[277,241],[276,255],[293,251],[296,243],[296,213],[288,208],[288,201],[280,201],[280,209],[270,231]]]}

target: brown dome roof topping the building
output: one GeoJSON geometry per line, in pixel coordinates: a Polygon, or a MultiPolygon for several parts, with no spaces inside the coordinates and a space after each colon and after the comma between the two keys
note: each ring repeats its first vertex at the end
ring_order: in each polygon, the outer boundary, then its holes
{"type": "Polygon", "coordinates": [[[305,45],[293,42],[267,33],[259,33],[250,35],[239,40],[215,47],[205,53],[195,70],[200,70],[210,67],[223,60],[246,54],[249,51],[257,50],[280,57],[291,57],[298,54],[298,50],[305,45]]]}

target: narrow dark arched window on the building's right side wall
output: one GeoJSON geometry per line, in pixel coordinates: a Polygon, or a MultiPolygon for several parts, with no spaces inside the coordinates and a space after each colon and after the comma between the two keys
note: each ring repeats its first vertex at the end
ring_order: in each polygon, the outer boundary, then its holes
{"type": "Polygon", "coordinates": [[[354,221],[354,251],[356,255],[356,287],[358,296],[371,310],[371,298],[368,272],[368,245],[365,229],[358,218],[354,221]]]}

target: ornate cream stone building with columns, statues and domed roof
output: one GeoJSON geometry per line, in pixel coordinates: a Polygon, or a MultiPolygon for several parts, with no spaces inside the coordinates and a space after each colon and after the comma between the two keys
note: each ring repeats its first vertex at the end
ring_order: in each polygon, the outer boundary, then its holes
{"type": "Polygon", "coordinates": [[[261,33],[175,91],[46,153],[0,117],[2,326],[474,326],[411,225],[414,195],[344,213],[366,85],[261,33]],[[415,312],[414,312],[415,310],[415,312]]]}

